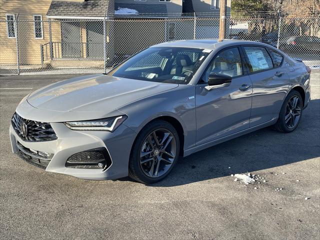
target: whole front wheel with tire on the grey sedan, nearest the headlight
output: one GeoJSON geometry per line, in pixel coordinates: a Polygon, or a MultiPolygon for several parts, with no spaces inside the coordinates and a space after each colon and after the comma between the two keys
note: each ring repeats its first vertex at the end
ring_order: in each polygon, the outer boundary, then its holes
{"type": "Polygon", "coordinates": [[[142,183],[163,179],[179,156],[179,137],[168,122],[156,120],[141,130],[131,151],[129,176],[142,183]]]}

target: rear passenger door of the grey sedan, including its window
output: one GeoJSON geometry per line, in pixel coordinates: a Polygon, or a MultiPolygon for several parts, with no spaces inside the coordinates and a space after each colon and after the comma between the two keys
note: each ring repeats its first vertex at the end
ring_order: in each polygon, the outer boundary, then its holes
{"type": "Polygon", "coordinates": [[[252,81],[250,127],[275,120],[289,87],[283,56],[264,46],[242,47],[249,77],[252,81]],[[272,55],[272,58],[271,58],[272,55]]]}

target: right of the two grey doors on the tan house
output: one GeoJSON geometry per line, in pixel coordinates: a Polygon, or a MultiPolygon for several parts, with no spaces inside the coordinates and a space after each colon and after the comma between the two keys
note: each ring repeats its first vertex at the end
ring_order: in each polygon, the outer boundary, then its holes
{"type": "Polygon", "coordinates": [[[86,22],[87,57],[90,59],[103,59],[103,22],[86,22]]]}

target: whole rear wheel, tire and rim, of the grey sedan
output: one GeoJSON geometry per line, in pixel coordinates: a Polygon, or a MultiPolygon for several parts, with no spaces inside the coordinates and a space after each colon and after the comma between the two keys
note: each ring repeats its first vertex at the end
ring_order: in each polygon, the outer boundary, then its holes
{"type": "Polygon", "coordinates": [[[280,132],[293,131],[300,122],[302,108],[300,93],[296,90],[290,91],[283,102],[275,128],[280,132]]]}

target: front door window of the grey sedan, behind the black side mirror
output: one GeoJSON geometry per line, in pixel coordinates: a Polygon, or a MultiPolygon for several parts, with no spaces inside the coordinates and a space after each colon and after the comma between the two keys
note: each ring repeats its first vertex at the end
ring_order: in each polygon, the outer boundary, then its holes
{"type": "Polygon", "coordinates": [[[225,74],[231,77],[242,75],[242,64],[238,48],[228,48],[218,53],[205,70],[202,81],[208,82],[208,77],[211,73],[225,74]]]}

